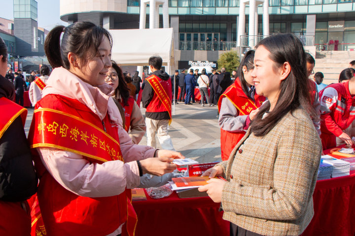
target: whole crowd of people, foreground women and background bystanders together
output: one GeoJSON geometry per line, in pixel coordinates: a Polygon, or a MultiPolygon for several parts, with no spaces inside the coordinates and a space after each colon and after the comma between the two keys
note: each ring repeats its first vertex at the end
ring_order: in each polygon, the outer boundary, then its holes
{"type": "Polygon", "coordinates": [[[138,71],[131,78],[111,60],[111,47],[100,26],[57,26],[44,45],[53,70],[43,65],[26,84],[21,71],[12,75],[0,39],[0,235],[30,235],[31,217],[32,230],[50,236],[134,235],[130,189],[143,176],[172,173],[172,161],[184,158],[168,133],[172,105],[196,102],[197,85],[201,105],[218,106],[222,157],[199,191],[221,203],[230,235],[306,229],[322,149],[354,143],[355,61],[339,83],[322,84],[321,72],[313,82],[314,58],[296,36],[278,34],[248,51],[232,73],[170,76],[152,56],[141,88],[138,71]],[[25,88],[35,107],[27,139],[25,88]],[[138,145],[144,134],[147,146],[138,145]]]}

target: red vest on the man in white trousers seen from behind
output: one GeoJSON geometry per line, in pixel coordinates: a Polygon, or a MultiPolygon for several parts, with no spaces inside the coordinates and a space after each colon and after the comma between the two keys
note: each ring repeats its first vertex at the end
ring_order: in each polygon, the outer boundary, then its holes
{"type": "Polygon", "coordinates": [[[172,120],[171,100],[172,84],[171,80],[162,80],[160,77],[151,75],[146,81],[154,89],[153,99],[146,108],[146,112],[168,112],[170,116],[169,124],[172,120]]]}

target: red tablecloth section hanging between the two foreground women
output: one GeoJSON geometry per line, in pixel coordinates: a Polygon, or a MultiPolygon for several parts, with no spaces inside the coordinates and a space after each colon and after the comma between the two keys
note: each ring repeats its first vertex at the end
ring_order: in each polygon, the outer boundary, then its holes
{"type": "MultiPolygon", "coordinates": [[[[147,194],[146,194],[147,195],[147,194]]],[[[209,197],[134,201],[138,216],[136,236],[227,236],[229,222],[222,219],[219,204],[209,197]]]]}

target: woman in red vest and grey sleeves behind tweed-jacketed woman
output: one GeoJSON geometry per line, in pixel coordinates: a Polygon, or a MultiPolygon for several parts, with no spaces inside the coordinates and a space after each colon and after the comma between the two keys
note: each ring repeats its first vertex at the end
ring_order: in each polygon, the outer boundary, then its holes
{"type": "Polygon", "coordinates": [[[254,51],[248,51],[237,71],[238,78],[229,86],[218,100],[221,128],[220,145],[222,160],[228,160],[234,146],[243,138],[249,122],[259,111],[265,97],[255,93],[251,72],[254,69],[254,51]]]}

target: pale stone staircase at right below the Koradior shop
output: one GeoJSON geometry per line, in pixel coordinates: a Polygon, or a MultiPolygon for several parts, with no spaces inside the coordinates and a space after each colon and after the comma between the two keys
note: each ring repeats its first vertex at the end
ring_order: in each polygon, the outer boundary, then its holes
{"type": "Polygon", "coordinates": [[[355,60],[355,51],[317,51],[314,72],[324,74],[323,83],[338,83],[339,74],[355,60]]]}

